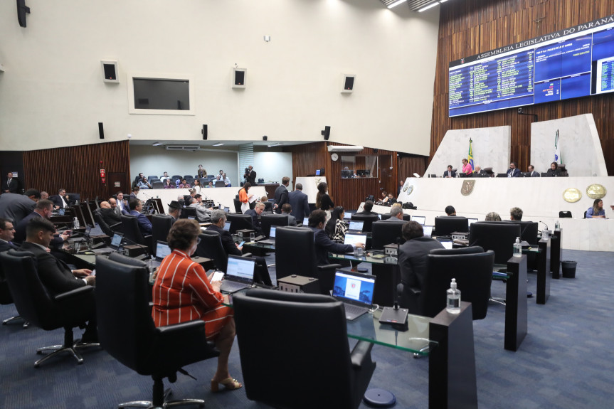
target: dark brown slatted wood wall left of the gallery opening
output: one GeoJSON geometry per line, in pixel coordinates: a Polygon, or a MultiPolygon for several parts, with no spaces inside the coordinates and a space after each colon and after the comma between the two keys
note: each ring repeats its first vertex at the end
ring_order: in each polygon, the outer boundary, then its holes
{"type": "Polygon", "coordinates": [[[108,174],[123,173],[122,188],[129,192],[129,154],[128,141],[23,152],[25,186],[50,195],[65,188],[67,192],[80,193],[82,199],[108,198],[108,174]],[[107,173],[105,184],[101,182],[100,169],[107,173]]]}

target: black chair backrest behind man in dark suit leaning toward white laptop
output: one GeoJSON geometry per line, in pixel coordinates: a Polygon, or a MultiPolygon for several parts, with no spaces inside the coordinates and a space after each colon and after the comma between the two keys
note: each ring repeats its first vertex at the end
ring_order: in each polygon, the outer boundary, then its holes
{"type": "Polygon", "coordinates": [[[280,227],[275,230],[275,271],[277,280],[288,275],[317,277],[313,230],[308,227],[280,227]]]}

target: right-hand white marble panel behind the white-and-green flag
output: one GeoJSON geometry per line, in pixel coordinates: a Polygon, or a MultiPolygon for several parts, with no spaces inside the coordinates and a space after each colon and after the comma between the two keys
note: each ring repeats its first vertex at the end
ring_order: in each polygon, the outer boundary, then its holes
{"type": "Polygon", "coordinates": [[[561,159],[571,176],[608,176],[592,114],[531,124],[531,164],[536,171],[547,171],[554,161],[557,129],[561,159]]]}

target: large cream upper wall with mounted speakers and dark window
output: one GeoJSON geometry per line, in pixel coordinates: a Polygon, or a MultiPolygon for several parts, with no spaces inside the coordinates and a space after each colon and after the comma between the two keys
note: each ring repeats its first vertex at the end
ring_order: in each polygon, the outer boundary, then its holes
{"type": "Polygon", "coordinates": [[[438,8],[376,0],[0,1],[0,146],[201,139],[321,141],[427,155],[438,8]],[[271,36],[270,42],[263,36],[271,36]],[[120,84],[100,60],[119,61],[120,84]],[[245,90],[231,69],[247,68],[245,90]],[[190,75],[195,115],[129,115],[127,73],[190,75]],[[342,73],[355,74],[342,95],[342,73]]]}

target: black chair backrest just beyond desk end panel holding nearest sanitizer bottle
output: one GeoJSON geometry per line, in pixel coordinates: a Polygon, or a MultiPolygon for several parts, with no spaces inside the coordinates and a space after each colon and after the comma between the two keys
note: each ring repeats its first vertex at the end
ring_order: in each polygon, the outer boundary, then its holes
{"type": "Polygon", "coordinates": [[[446,291],[456,279],[460,299],[471,302],[473,319],[486,317],[494,252],[455,254],[438,251],[428,255],[428,275],[423,286],[423,315],[435,317],[445,308],[446,291]]]}

